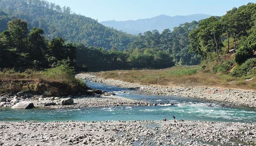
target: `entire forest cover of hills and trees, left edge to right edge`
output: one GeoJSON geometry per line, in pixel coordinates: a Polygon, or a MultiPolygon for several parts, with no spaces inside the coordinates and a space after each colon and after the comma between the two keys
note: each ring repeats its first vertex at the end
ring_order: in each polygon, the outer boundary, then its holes
{"type": "MultiPolygon", "coordinates": [[[[83,70],[167,68],[197,65],[210,72],[255,69],[256,4],[226,15],[180,24],[173,31],[138,36],[105,27],[97,20],[44,0],[0,0],[1,68],[83,70]],[[9,23],[8,23],[9,22],[9,23]],[[236,53],[227,55],[229,50],[236,53]],[[251,65],[252,64],[252,65],[251,65]],[[244,65],[246,66],[246,65],[244,65]]],[[[238,75],[236,75],[238,76],[238,75]]]]}

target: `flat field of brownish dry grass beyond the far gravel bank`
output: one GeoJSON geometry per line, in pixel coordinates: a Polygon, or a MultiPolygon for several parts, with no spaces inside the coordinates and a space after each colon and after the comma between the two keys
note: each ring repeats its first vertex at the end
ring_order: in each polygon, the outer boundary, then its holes
{"type": "Polygon", "coordinates": [[[177,66],[159,70],[114,70],[99,72],[103,78],[113,78],[140,84],[187,87],[223,87],[256,91],[256,79],[246,81],[228,75],[206,73],[197,66],[177,66]]]}

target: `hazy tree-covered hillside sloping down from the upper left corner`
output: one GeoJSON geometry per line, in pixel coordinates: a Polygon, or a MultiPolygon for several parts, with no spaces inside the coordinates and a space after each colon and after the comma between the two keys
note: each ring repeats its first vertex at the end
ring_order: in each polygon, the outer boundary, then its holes
{"type": "Polygon", "coordinates": [[[45,0],[0,0],[0,10],[26,20],[29,30],[42,28],[49,39],[62,37],[69,42],[107,49],[115,46],[118,50],[124,50],[135,39],[133,35],[105,27],[97,20],[72,13],[69,7],[61,8],[45,0]]]}

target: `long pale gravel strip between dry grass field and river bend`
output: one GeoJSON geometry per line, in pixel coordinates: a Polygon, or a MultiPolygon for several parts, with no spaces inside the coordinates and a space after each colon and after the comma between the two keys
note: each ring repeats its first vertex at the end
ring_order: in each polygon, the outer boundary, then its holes
{"type": "Polygon", "coordinates": [[[94,74],[77,74],[77,78],[101,84],[122,88],[136,89],[141,94],[193,97],[225,103],[226,105],[246,105],[256,107],[256,92],[225,88],[204,87],[161,87],[155,85],[141,85],[139,83],[104,79],[94,74]],[[231,103],[231,104],[230,104],[231,103]]]}

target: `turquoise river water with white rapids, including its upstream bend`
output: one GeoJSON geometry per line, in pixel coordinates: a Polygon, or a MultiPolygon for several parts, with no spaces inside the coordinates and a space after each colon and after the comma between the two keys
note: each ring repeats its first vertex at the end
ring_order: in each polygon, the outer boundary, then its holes
{"type": "Polygon", "coordinates": [[[165,105],[151,107],[117,106],[78,109],[45,109],[15,110],[2,108],[0,121],[36,120],[49,121],[105,121],[105,120],[161,120],[163,117],[183,120],[204,120],[215,122],[256,122],[256,108],[223,107],[206,100],[182,98],[176,96],[150,96],[131,94],[131,90],[108,85],[87,82],[92,88],[115,92],[118,96],[131,99],[146,99],[152,103],[164,102],[165,105]],[[125,93],[124,93],[125,92],[125,93]],[[169,103],[175,103],[170,105],[169,103]]]}

